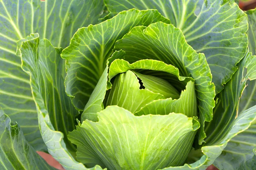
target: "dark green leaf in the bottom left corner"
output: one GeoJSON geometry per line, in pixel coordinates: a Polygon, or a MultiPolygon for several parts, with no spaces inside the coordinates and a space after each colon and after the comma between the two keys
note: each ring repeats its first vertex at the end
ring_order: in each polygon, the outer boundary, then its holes
{"type": "Polygon", "coordinates": [[[0,169],[1,170],[53,170],[26,141],[17,123],[0,108],[0,169]]]}

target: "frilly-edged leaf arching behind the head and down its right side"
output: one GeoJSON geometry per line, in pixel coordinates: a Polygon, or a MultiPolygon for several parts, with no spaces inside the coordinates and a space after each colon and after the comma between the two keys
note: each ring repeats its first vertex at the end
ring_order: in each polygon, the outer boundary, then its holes
{"type": "Polygon", "coordinates": [[[162,22],[153,23],[148,27],[137,26],[118,40],[114,49],[125,51],[125,60],[130,63],[140,59],[160,60],[178,68],[180,76],[195,79],[201,120],[199,143],[204,142],[204,122],[212,120],[215,86],[211,83],[212,74],[204,54],[197,54],[186,43],[180,29],[162,22]]]}

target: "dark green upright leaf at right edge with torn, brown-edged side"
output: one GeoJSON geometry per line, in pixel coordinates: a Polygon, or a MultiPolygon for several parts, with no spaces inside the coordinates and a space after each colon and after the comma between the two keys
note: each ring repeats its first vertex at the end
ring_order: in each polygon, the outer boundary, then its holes
{"type": "Polygon", "coordinates": [[[239,114],[239,99],[246,87],[247,79],[256,79],[256,56],[247,53],[239,63],[239,70],[218,94],[218,102],[214,108],[212,122],[206,125],[207,145],[222,140],[239,114]],[[218,116],[217,116],[218,115],[218,116]]]}

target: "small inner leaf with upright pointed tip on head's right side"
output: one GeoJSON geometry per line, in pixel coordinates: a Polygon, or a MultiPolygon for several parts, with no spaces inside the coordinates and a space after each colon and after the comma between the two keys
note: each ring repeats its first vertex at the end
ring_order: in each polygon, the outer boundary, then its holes
{"type": "Polygon", "coordinates": [[[183,113],[188,117],[197,116],[197,103],[195,95],[195,83],[190,81],[186,89],[181,92],[177,100],[161,99],[148,103],[145,107],[137,111],[135,115],[183,113]]]}

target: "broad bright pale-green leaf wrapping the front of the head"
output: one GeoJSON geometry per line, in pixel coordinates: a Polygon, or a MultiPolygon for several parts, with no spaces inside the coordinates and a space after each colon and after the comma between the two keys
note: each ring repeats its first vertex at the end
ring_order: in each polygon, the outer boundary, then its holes
{"type": "Polygon", "coordinates": [[[77,126],[69,138],[78,144],[81,162],[90,160],[81,155],[91,151],[93,158],[115,170],[181,165],[200,126],[183,114],[134,116],[118,106],[108,106],[98,117],[99,122],[86,120],[77,126]]]}

